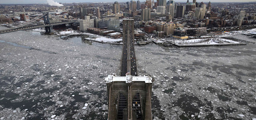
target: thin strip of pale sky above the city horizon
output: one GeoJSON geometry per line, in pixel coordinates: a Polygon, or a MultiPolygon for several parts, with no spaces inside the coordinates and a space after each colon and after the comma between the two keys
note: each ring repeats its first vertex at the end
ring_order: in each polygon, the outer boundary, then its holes
{"type": "MultiPolygon", "coordinates": [[[[91,0],[54,0],[60,3],[74,3],[74,2],[92,2],[91,0]]],[[[117,2],[128,2],[130,0],[114,0],[117,2]]],[[[114,2],[112,0],[95,0],[95,2],[114,2]]],[[[137,1],[137,0],[135,0],[137,1]]],[[[146,0],[140,0],[140,2],[145,2],[146,0]]],[[[187,0],[174,0],[175,2],[186,2],[187,0]]],[[[190,0],[192,2],[192,0],[190,0]]],[[[223,0],[198,0],[198,2],[223,2],[223,0]]],[[[95,3],[94,2],[94,3],[95,3]]],[[[256,0],[225,0],[225,2],[256,2],[256,0]]],[[[38,2],[38,0],[0,0],[1,4],[46,4],[46,0],[38,2]]]]}

